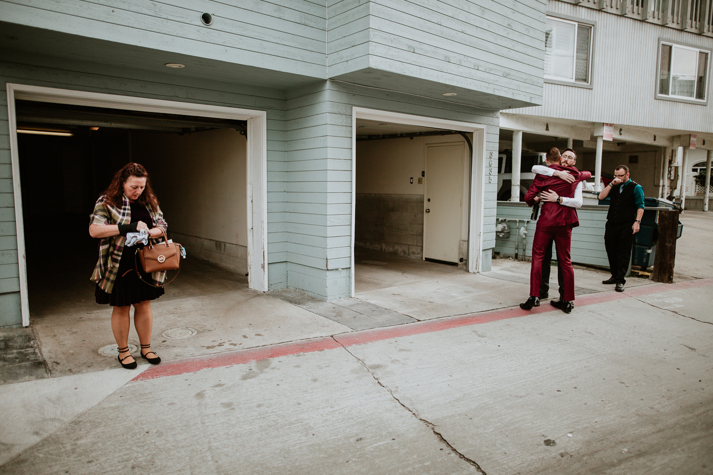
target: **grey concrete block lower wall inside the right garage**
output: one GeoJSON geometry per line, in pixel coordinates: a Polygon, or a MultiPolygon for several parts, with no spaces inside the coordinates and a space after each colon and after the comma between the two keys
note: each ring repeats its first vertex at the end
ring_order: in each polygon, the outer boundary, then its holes
{"type": "Polygon", "coordinates": [[[356,194],[354,246],[424,256],[423,194],[356,194]]]}

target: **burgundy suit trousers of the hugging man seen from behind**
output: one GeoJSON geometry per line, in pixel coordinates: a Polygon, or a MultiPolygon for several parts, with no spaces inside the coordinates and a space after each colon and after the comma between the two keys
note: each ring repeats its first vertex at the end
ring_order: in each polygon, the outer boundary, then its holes
{"type": "MultiPolygon", "coordinates": [[[[545,246],[554,239],[557,249],[557,263],[562,269],[565,301],[575,299],[575,271],[572,268],[570,244],[572,226],[538,226],[533,238],[533,261],[530,266],[530,296],[540,296],[540,281],[545,256],[545,246]]],[[[548,262],[549,266],[550,263],[548,262]]]]}

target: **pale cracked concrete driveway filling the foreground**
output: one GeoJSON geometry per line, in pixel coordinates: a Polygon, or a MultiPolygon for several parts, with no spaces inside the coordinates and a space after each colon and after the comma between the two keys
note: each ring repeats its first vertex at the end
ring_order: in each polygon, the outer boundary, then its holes
{"type": "Polygon", "coordinates": [[[505,305],[312,313],[314,338],[0,385],[0,474],[713,474],[713,278],[690,266],[570,315],[472,276],[505,305]]]}

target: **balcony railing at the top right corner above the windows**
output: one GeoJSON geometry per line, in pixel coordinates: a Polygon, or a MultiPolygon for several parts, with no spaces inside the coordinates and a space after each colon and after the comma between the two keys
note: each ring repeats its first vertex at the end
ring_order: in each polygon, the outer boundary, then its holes
{"type": "Polygon", "coordinates": [[[713,36],[713,0],[571,0],[577,5],[713,36]]]}

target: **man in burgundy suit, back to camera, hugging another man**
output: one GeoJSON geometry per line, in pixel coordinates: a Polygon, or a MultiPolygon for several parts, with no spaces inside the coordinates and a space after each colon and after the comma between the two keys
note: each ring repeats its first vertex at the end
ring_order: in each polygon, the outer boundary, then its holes
{"type": "Polygon", "coordinates": [[[572,240],[572,229],[579,226],[577,211],[572,207],[563,206],[562,198],[573,198],[577,184],[585,179],[589,179],[590,172],[580,172],[575,167],[563,167],[562,165],[552,165],[550,168],[569,172],[575,180],[567,182],[558,177],[545,177],[541,174],[535,175],[535,181],[525,194],[525,202],[529,206],[535,204],[535,197],[539,192],[543,192],[543,205],[540,209],[540,217],[535,229],[533,238],[533,260],[530,266],[530,298],[525,303],[520,303],[520,308],[530,310],[530,308],[540,306],[540,280],[542,279],[543,258],[545,256],[545,246],[553,239],[557,249],[558,265],[562,269],[564,283],[564,298],[561,301],[550,301],[556,308],[560,308],[565,313],[570,313],[574,308],[575,299],[575,273],[570,259],[570,244],[572,240]]]}

